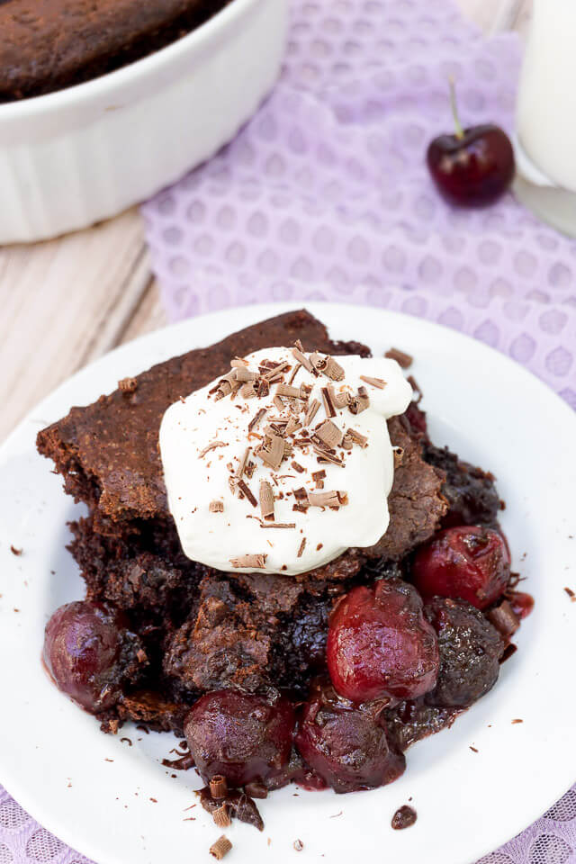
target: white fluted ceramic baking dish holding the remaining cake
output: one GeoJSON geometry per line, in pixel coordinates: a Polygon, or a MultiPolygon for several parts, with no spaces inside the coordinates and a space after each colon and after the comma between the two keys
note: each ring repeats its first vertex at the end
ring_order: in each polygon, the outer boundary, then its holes
{"type": "Polygon", "coordinates": [[[232,0],[116,72],[0,105],[0,244],[106,219],[210,157],[270,90],[289,0],[232,0]]]}

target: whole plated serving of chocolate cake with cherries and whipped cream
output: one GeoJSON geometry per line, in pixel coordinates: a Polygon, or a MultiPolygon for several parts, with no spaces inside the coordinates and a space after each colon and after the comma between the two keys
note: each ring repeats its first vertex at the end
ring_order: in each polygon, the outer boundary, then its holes
{"type": "Polygon", "coordinates": [[[46,666],[104,732],[184,736],[217,824],[262,828],[254,799],[291,781],[392,782],[514,650],[494,478],[430,441],[401,365],[291,311],[38,436],[87,506],[46,666]]]}

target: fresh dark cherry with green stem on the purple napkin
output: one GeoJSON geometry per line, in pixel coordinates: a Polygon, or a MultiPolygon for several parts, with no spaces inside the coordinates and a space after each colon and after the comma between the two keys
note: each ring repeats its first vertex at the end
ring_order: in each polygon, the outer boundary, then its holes
{"type": "Polygon", "coordinates": [[[450,95],[455,134],[439,135],[428,146],[428,169],[438,191],[451,204],[482,207],[506,192],[514,177],[514,150],[506,132],[486,124],[463,129],[450,95]]]}

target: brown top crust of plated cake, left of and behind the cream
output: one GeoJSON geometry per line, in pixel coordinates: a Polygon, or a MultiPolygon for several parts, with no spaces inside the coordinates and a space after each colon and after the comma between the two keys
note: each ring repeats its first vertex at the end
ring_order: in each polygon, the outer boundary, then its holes
{"type": "Polygon", "coordinates": [[[334,342],[309,312],[286,312],[216,345],[152,366],[136,377],[130,392],[119,388],[86,408],[73,408],[39,433],[38,449],[64,476],[67,493],[97,509],[97,518],[112,523],[166,518],[158,453],[158,430],[166,409],[227,372],[232,357],[259,348],[290,346],[296,339],[311,351],[370,354],[357,342],[334,342]]]}

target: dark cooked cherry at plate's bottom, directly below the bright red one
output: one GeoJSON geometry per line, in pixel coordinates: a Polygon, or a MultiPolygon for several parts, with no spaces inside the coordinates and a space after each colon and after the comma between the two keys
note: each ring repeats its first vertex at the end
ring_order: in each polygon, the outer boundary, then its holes
{"type": "Polygon", "coordinates": [[[336,792],[384,786],[406,767],[370,707],[338,697],[329,683],[315,687],[305,703],[296,747],[336,792]]]}

